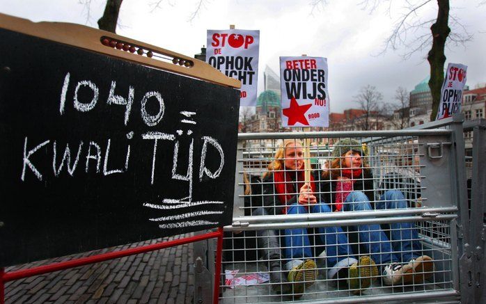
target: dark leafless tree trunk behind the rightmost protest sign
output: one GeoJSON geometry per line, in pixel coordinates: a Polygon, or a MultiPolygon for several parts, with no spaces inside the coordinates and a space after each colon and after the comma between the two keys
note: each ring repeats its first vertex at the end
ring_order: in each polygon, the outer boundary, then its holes
{"type": "Polygon", "coordinates": [[[430,92],[432,93],[432,114],[430,120],[434,121],[437,116],[437,109],[441,102],[441,87],[444,81],[444,63],[446,55],[444,47],[450,33],[448,26],[449,19],[449,0],[437,0],[439,9],[437,10],[437,20],[430,30],[432,31],[432,49],[430,49],[427,60],[430,63],[430,92]]]}

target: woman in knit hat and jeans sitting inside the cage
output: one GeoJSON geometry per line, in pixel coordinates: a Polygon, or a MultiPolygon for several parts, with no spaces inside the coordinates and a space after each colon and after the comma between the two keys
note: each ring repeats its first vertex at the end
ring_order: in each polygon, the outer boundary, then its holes
{"type": "MultiPolygon", "coordinates": [[[[345,138],[334,145],[332,156],[329,168],[320,177],[320,200],[332,211],[372,210],[373,175],[364,160],[363,146],[352,138],[345,138]]],[[[404,195],[397,190],[385,191],[375,203],[376,209],[406,207],[404,195]]],[[[378,224],[357,225],[360,245],[381,266],[384,284],[423,282],[432,274],[434,264],[430,257],[421,255],[414,223],[391,223],[390,226],[391,241],[378,224]]],[[[338,233],[334,246],[329,241],[326,244],[327,264],[331,267],[328,278],[346,276],[343,269],[356,262],[351,247],[340,246],[340,243],[348,243],[346,234],[338,233]]]]}

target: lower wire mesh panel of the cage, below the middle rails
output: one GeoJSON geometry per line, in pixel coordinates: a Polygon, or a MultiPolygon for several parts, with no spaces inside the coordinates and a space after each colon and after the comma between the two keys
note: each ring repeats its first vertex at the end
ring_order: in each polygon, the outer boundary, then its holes
{"type": "MultiPolygon", "coordinates": [[[[447,234],[450,221],[416,224],[418,224],[418,232],[421,232],[423,229],[424,232],[429,233],[429,236],[419,233],[418,237],[412,240],[418,241],[420,243],[418,250],[433,260],[432,269],[416,266],[413,275],[409,275],[407,278],[405,278],[405,275],[402,275],[403,278],[401,280],[390,282],[386,278],[386,273],[382,271],[382,269],[389,266],[389,263],[369,255],[368,249],[365,248],[367,243],[359,237],[355,227],[349,225],[340,226],[342,232],[339,233],[342,235],[337,236],[334,232],[326,232],[325,230],[319,232],[317,229],[307,229],[308,231],[302,234],[301,237],[307,237],[311,240],[311,245],[308,246],[311,250],[311,255],[303,259],[302,262],[304,264],[307,263],[311,268],[303,271],[303,280],[299,281],[301,287],[297,287],[295,282],[290,281],[291,283],[288,284],[292,286],[289,287],[288,292],[281,291],[281,283],[272,280],[272,276],[280,278],[281,281],[290,280],[289,273],[292,273],[292,270],[287,269],[285,266],[292,261],[289,261],[284,256],[279,260],[256,259],[258,251],[261,250],[256,245],[258,243],[257,237],[254,241],[246,240],[245,245],[249,247],[244,248],[244,252],[242,252],[243,248],[240,250],[226,248],[224,250],[226,258],[224,262],[225,281],[221,283],[221,287],[224,288],[221,301],[222,303],[273,303],[290,301],[292,299],[314,301],[356,298],[356,301],[361,303],[360,301],[363,301],[363,297],[452,290],[453,279],[451,272],[453,271],[453,257],[450,248],[450,234],[447,234]],[[345,253],[344,255],[336,253],[327,256],[327,246],[322,246],[323,239],[344,237],[345,235],[347,236],[347,241],[341,243],[340,246],[350,246],[352,253],[345,253]],[[357,263],[350,263],[349,266],[351,267],[349,269],[343,267],[344,271],[336,271],[336,266],[329,262],[333,258],[340,259],[340,261],[355,259],[357,263]],[[377,259],[375,265],[368,262],[372,259],[373,262],[377,259]],[[277,266],[273,266],[274,264],[277,264],[277,266]],[[356,269],[354,276],[352,276],[352,272],[350,273],[350,269],[353,268],[356,269]],[[309,272],[314,272],[315,274],[308,274],[309,272]],[[334,273],[334,275],[331,276],[331,273],[334,273]]],[[[380,230],[386,234],[391,232],[390,227],[380,228],[380,230]]],[[[370,230],[370,232],[377,232],[377,230],[370,230]]],[[[240,234],[228,236],[226,241],[231,241],[234,246],[237,246],[239,238],[255,237],[255,233],[250,231],[240,232],[240,234]]],[[[290,248],[283,241],[281,243],[280,250],[285,251],[290,248]]],[[[373,243],[368,243],[368,245],[370,244],[373,243]]],[[[390,255],[406,253],[405,250],[395,249],[390,251],[390,255]]],[[[406,266],[408,267],[409,264],[411,263],[407,263],[406,266]]],[[[411,266],[413,267],[413,264],[411,266]]],[[[296,272],[296,270],[293,272],[296,272]]],[[[388,300],[391,301],[393,298],[389,297],[388,300]]]]}

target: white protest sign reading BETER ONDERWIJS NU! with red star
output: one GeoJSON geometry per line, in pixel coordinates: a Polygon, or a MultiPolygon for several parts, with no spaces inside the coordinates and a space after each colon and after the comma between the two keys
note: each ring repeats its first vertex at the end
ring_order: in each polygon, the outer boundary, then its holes
{"type": "Polygon", "coordinates": [[[283,127],[329,127],[327,58],[280,57],[283,127]]]}

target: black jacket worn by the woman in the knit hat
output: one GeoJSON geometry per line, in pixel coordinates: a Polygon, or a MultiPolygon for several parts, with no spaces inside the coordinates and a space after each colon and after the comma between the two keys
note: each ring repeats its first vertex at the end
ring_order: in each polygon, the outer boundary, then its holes
{"type": "MultiPolygon", "coordinates": [[[[332,204],[334,208],[334,201],[336,199],[336,180],[331,180],[332,177],[324,179],[322,175],[319,177],[318,187],[318,201],[332,204]]],[[[373,207],[375,201],[374,186],[373,186],[373,174],[370,170],[363,170],[363,174],[357,178],[353,184],[354,191],[362,191],[370,200],[373,207]]],[[[333,210],[334,211],[334,210],[333,210]]]]}

